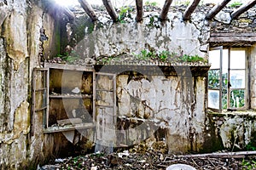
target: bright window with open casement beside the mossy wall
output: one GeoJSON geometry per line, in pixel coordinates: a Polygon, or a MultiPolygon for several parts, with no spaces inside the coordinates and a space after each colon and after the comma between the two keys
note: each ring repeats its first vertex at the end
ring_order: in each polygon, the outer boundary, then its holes
{"type": "Polygon", "coordinates": [[[208,73],[208,108],[241,110],[247,104],[246,65],[244,48],[211,48],[208,73]]]}

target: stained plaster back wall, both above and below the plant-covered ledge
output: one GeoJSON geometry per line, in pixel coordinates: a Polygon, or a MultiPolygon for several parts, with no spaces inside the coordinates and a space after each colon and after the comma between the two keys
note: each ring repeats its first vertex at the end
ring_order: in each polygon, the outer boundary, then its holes
{"type": "MultiPolygon", "coordinates": [[[[207,59],[210,27],[207,20],[204,20],[205,14],[197,12],[189,21],[184,21],[182,16],[183,13],[177,10],[169,13],[166,22],[160,22],[158,13],[146,13],[143,22],[137,23],[136,15],[133,14],[125,23],[113,24],[108,17],[102,15],[96,24],[96,30],[87,32],[90,28],[85,27],[86,35],[74,50],[85,58],[96,59],[139,54],[143,49],[154,50],[156,53],[170,51],[177,54],[198,54],[207,59]]],[[[108,71],[108,65],[104,69],[108,71]]],[[[127,71],[134,71],[133,69],[127,71]]],[[[127,119],[141,120],[135,120],[137,123],[130,121],[130,125],[119,129],[121,132],[114,135],[111,133],[114,142],[117,137],[117,142],[121,144],[137,144],[162,127],[167,129],[166,140],[170,152],[202,150],[206,77],[202,76],[203,73],[194,77],[190,70],[186,74],[190,76],[166,77],[162,73],[151,76],[150,81],[145,77],[130,80],[128,75],[120,74],[117,78],[118,114],[127,119]],[[140,125],[141,121],[147,123],[140,125]],[[125,134],[122,133],[124,130],[125,134]],[[125,136],[121,138],[123,141],[120,141],[119,135],[125,136]]],[[[117,122],[116,127],[120,127],[119,123],[117,122]]],[[[109,126],[112,125],[111,123],[109,126]]],[[[108,133],[106,136],[108,139],[109,135],[108,133]]]]}

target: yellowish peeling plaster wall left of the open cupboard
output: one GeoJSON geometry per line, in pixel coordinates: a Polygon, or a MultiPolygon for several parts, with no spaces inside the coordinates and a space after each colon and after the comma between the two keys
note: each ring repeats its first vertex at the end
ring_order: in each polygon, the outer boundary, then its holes
{"type": "MultiPolygon", "coordinates": [[[[49,156],[43,150],[42,122],[31,135],[31,85],[32,69],[38,66],[39,30],[44,25],[51,36],[55,20],[44,4],[26,0],[0,2],[0,16],[0,169],[28,168],[49,156]]],[[[44,49],[52,52],[51,38],[44,49]]]]}

